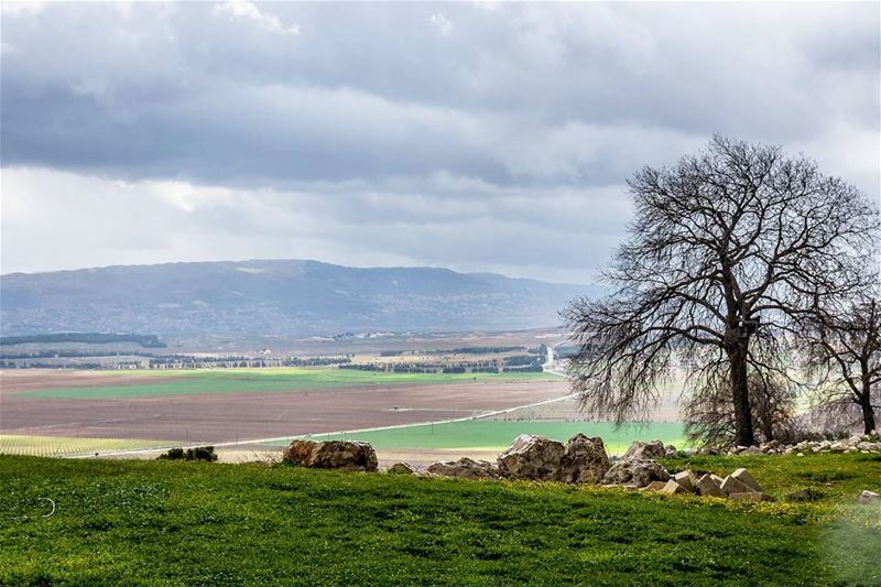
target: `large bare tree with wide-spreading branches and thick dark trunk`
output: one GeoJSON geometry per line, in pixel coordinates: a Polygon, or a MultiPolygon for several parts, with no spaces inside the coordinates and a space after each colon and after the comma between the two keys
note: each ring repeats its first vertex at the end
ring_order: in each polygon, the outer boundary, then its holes
{"type": "Polygon", "coordinates": [[[692,392],[727,374],[737,443],[752,445],[748,367],[785,372],[779,347],[811,295],[866,285],[878,210],[812,161],[721,137],[628,185],[635,219],[605,274],[613,293],[562,313],[583,406],[641,420],[682,363],[692,392]]]}

